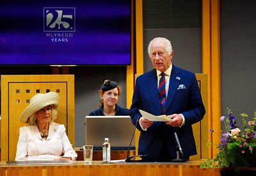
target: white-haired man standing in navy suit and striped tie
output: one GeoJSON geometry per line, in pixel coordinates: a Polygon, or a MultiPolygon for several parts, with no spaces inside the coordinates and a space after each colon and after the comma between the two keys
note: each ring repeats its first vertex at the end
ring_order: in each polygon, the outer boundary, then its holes
{"type": "Polygon", "coordinates": [[[136,79],[130,116],[140,134],[139,154],[147,161],[171,161],[177,157],[180,141],[184,159],[196,154],[191,125],[202,120],[204,104],[195,74],[172,65],[172,44],[166,38],[154,38],[148,45],[148,54],[154,67],[136,79]],[[162,78],[162,82],[161,81],[162,78]],[[159,83],[161,81],[161,83],[159,83]],[[159,84],[164,85],[160,97],[159,84]],[[153,115],[167,115],[168,122],[150,122],[139,109],[153,115]],[[138,123],[137,123],[138,122],[138,123]]]}

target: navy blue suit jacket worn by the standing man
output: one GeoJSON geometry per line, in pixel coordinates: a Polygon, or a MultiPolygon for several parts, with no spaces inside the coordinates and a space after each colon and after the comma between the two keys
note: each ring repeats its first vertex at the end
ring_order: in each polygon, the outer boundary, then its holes
{"type": "MultiPolygon", "coordinates": [[[[130,109],[130,116],[134,125],[137,119],[141,117],[139,109],[153,115],[163,115],[158,98],[155,69],[136,79],[130,109]]],[[[166,147],[170,158],[176,158],[177,144],[173,132],[177,132],[184,157],[196,154],[191,125],[202,120],[205,108],[195,74],[174,65],[164,110],[165,115],[172,115],[173,113],[184,115],[185,125],[183,127],[171,127],[166,125],[165,122],[154,122],[147,131],[143,131],[140,125],[137,125],[137,128],[141,131],[139,154],[147,155],[148,159],[154,159],[159,157],[163,147],[166,147]]]]}

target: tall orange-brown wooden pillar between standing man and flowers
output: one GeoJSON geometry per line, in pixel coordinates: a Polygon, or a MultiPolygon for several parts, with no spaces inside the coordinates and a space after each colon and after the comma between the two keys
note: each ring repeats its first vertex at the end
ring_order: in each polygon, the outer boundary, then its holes
{"type": "MultiPolygon", "coordinates": [[[[202,1],[202,70],[208,74],[208,109],[209,129],[212,133],[210,141],[219,143],[220,125],[220,1],[202,1]]],[[[209,157],[216,156],[217,148],[209,149],[209,157]]]]}

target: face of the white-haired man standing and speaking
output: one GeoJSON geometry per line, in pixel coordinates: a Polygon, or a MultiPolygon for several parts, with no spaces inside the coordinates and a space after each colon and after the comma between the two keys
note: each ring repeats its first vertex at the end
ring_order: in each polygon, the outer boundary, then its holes
{"type": "Polygon", "coordinates": [[[161,40],[152,42],[150,47],[150,59],[156,70],[164,72],[171,65],[173,52],[169,55],[165,50],[165,44],[161,40]]]}

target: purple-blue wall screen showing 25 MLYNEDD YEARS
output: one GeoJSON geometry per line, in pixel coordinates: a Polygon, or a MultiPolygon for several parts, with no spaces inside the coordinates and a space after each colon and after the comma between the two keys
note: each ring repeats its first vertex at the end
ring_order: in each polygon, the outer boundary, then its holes
{"type": "Polygon", "coordinates": [[[13,0],[0,15],[0,65],[131,64],[131,0],[13,0]]]}

